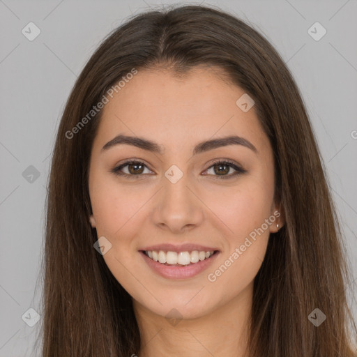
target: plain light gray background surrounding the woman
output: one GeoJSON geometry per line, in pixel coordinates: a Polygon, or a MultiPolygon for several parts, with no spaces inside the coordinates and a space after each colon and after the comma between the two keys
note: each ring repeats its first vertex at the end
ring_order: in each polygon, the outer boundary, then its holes
{"type": "MultiPolygon", "coordinates": [[[[160,4],[0,0],[0,357],[30,356],[42,321],[31,328],[22,315],[30,307],[36,310],[41,294],[36,284],[43,255],[47,175],[70,89],[109,31],[130,14],[160,4]],[[22,34],[29,22],[41,31],[33,41],[22,34]],[[38,171],[37,178],[29,176],[30,165],[38,171]]],[[[219,6],[248,21],[287,62],[317,135],[357,279],[357,1],[202,4],[219,6]],[[320,40],[307,33],[315,22],[327,30],[320,40]]],[[[356,282],[347,287],[350,296],[355,287],[356,282]]],[[[351,306],[357,317],[355,303],[351,306]]]]}

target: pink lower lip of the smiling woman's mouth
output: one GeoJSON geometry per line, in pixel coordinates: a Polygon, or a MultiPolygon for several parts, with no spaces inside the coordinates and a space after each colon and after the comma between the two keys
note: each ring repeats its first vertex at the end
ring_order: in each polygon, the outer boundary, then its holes
{"type": "Polygon", "coordinates": [[[150,268],[162,277],[169,279],[186,279],[202,273],[208,266],[213,264],[213,261],[215,261],[220,253],[215,252],[215,254],[208,259],[198,261],[197,263],[188,266],[168,266],[149,258],[143,251],[140,251],[140,254],[150,268]]]}

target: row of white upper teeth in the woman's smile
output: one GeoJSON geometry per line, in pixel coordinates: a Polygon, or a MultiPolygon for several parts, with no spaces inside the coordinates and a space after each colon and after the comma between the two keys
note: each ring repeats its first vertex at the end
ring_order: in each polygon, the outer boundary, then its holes
{"type": "Polygon", "coordinates": [[[145,251],[145,254],[153,259],[154,261],[159,261],[161,264],[180,264],[180,265],[188,265],[188,264],[195,264],[198,261],[203,261],[204,259],[208,259],[213,255],[214,251],[212,252],[204,252],[193,250],[192,252],[172,252],[168,251],[165,252],[164,250],[160,250],[159,252],[155,250],[145,251]]]}

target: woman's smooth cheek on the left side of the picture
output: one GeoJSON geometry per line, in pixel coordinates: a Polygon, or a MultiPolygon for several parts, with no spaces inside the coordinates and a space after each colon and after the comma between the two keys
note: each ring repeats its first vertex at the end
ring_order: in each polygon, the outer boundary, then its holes
{"type": "Polygon", "coordinates": [[[139,289],[133,280],[132,271],[136,271],[137,257],[135,240],[140,225],[137,220],[142,220],[144,202],[148,202],[151,195],[147,190],[138,190],[135,185],[125,188],[119,185],[116,179],[99,176],[93,179],[91,204],[93,215],[96,219],[98,238],[105,236],[112,244],[111,248],[103,255],[109,270],[129,294],[135,294],[139,289]],[[100,185],[95,185],[96,182],[100,185]],[[141,209],[142,208],[142,209],[141,209]]]}

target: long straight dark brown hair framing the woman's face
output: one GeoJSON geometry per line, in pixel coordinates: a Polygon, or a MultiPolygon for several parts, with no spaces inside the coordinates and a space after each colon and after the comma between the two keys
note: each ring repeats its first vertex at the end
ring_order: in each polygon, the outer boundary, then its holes
{"type": "Polygon", "coordinates": [[[109,33],[66,103],[46,201],[44,357],[127,357],[140,350],[131,297],[93,249],[98,236],[89,223],[88,169],[102,110],[88,113],[133,68],[182,75],[199,65],[220,68],[255,100],[275,158],[285,225],[269,239],[255,278],[250,356],[354,356],[342,234],[291,73],[242,20],[213,7],[174,6],[132,16],[109,33]],[[326,314],[318,327],[308,318],[315,308],[326,314]]]}

